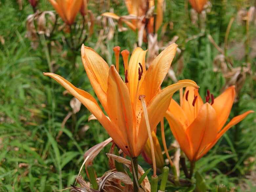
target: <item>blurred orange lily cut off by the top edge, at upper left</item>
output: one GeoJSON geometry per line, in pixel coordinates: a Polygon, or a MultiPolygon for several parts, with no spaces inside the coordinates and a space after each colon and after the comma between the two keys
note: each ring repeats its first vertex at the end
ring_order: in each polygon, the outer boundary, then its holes
{"type": "Polygon", "coordinates": [[[53,8],[57,11],[62,20],[71,25],[81,9],[82,0],[49,0],[53,8]]]}

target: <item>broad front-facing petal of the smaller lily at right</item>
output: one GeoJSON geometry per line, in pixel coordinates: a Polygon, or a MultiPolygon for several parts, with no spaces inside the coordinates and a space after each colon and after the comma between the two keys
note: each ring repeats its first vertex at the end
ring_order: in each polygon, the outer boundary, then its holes
{"type": "Polygon", "coordinates": [[[197,117],[187,128],[186,134],[192,146],[193,160],[218,135],[218,120],[216,112],[209,103],[203,104],[197,117]]]}

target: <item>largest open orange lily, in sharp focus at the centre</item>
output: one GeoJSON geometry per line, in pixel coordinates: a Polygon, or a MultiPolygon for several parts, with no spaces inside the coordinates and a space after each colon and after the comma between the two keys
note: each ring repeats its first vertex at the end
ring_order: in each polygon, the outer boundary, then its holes
{"type": "Polygon", "coordinates": [[[118,74],[120,47],[114,48],[117,71],[114,65],[109,67],[93,49],[82,45],[81,54],[85,71],[108,117],[89,93],[76,88],[59,75],[53,73],[44,73],[44,75],[55,79],[85,105],[126,155],[138,157],[148,139],[139,96],[145,95],[149,123],[153,131],[164,116],[174,92],[185,86],[198,87],[192,80],[182,80],[159,90],[176,49],[176,44],[167,47],[147,71],[146,51],[136,48],[128,65],[129,52],[123,50],[121,54],[124,60],[124,82],[118,74]]]}

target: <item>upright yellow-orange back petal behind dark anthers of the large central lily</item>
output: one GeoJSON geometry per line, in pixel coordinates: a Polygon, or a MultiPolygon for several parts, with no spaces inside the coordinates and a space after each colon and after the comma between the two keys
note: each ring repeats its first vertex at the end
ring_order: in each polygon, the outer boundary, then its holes
{"type": "Polygon", "coordinates": [[[143,68],[143,74],[140,79],[140,82],[141,82],[145,76],[144,74],[146,74],[146,65],[145,65],[146,52],[147,51],[143,51],[140,47],[137,47],[132,53],[132,56],[129,61],[129,65],[128,65],[129,85],[128,86],[129,86],[132,106],[134,102],[139,101],[139,97],[137,96],[137,85],[139,81],[138,69],[140,68],[139,66],[139,63],[140,63],[143,68]]]}

